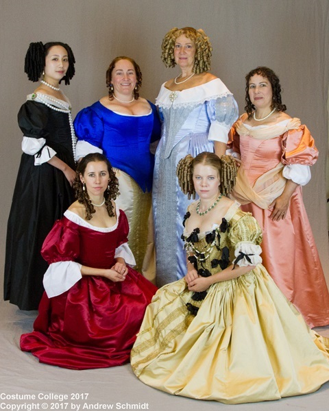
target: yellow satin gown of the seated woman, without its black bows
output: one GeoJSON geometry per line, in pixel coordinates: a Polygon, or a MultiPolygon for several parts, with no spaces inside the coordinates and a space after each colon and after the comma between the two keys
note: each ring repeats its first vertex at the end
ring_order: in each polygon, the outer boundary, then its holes
{"type": "MultiPolygon", "coordinates": [[[[230,262],[236,250],[244,250],[253,263],[259,258],[262,234],[256,220],[235,203],[226,221],[228,229],[217,227],[220,240],[212,248],[212,239],[202,233],[193,243],[208,255],[203,268],[211,274],[220,271],[211,262],[225,260],[225,247],[230,262]]],[[[160,288],[149,304],[131,353],[132,369],[145,384],[234,404],[312,393],[329,380],[328,339],[308,328],[262,264],[213,284],[202,301],[192,296],[181,279],[160,288]]]]}

